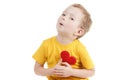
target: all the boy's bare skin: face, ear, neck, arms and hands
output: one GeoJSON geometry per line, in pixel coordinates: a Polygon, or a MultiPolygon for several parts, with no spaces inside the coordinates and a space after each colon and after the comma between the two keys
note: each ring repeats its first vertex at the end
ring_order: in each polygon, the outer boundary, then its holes
{"type": "MultiPolygon", "coordinates": [[[[80,21],[83,18],[83,13],[75,7],[68,7],[59,17],[56,28],[58,31],[57,40],[61,44],[69,44],[84,33],[80,28],[80,21]]],[[[44,68],[44,65],[35,63],[34,71],[37,75],[58,77],[79,77],[87,78],[94,75],[94,69],[74,69],[67,62],[60,60],[53,68],[44,68]],[[64,66],[61,66],[64,65],[64,66]]]]}

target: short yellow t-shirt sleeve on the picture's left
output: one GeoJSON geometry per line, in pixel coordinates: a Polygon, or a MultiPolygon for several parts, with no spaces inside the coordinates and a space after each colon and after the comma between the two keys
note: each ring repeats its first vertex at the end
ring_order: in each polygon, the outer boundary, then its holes
{"type": "Polygon", "coordinates": [[[46,61],[45,49],[46,49],[46,45],[45,45],[45,42],[43,42],[32,56],[35,59],[35,61],[38,62],[39,64],[44,64],[46,61]]]}

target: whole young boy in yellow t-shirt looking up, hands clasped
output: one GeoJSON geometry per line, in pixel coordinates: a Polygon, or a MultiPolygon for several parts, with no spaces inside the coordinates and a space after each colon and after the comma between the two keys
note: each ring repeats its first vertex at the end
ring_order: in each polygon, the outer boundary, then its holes
{"type": "Polygon", "coordinates": [[[33,55],[35,59],[34,71],[37,75],[47,76],[48,80],[88,80],[94,75],[94,64],[85,48],[78,40],[89,31],[91,18],[87,10],[80,4],[67,7],[59,17],[56,28],[57,36],[43,41],[33,55]],[[62,56],[73,56],[63,61],[62,56]],[[75,60],[75,61],[74,61],[75,60]],[[47,62],[48,68],[44,68],[47,62]]]}

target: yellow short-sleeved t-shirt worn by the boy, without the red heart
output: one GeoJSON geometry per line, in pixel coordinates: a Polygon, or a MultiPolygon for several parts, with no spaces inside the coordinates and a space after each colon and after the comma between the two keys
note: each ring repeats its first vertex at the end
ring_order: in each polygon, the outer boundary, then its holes
{"type": "MultiPolygon", "coordinates": [[[[76,63],[71,65],[76,69],[93,69],[94,64],[84,47],[79,40],[74,40],[69,44],[61,44],[57,41],[56,36],[43,41],[41,46],[33,55],[33,58],[39,64],[47,62],[48,68],[54,67],[60,60],[60,54],[63,50],[69,52],[71,56],[76,58],[76,63]]],[[[56,76],[49,76],[48,80],[88,80],[87,78],[81,79],[77,77],[58,78],[56,76]]]]}

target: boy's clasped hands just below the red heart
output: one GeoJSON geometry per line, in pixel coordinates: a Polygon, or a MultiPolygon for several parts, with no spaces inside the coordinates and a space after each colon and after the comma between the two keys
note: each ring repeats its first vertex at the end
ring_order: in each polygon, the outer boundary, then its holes
{"type": "Polygon", "coordinates": [[[69,77],[71,76],[71,73],[72,67],[67,62],[58,62],[58,64],[54,68],[54,75],[59,77],[69,77]]]}

